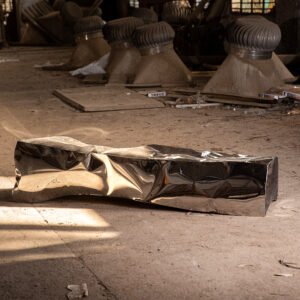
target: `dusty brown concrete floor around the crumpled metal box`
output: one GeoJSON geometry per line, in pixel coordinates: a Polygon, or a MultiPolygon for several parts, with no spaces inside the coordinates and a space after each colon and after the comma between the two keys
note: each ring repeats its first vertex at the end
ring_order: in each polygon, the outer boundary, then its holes
{"type": "Polygon", "coordinates": [[[70,50],[0,51],[0,176],[13,175],[17,139],[68,135],[87,143],[158,143],[277,155],[279,199],[265,218],[69,198],[0,202],[0,299],[65,299],[86,282],[89,299],[299,299],[300,117],[226,109],[80,113],[51,95],[78,87],[33,65],[70,50]],[[7,61],[19,60],[19,61],[7,61]],[[288,273],[293,277],[274,276],[288,273]]]}

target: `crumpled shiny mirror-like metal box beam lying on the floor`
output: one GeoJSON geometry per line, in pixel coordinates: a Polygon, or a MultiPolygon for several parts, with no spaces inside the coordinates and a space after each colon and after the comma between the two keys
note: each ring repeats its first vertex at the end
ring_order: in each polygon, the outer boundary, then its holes
{"type": "Polygon", "coordinates": [[[14,201],[98,195],[201,212],[265,215],[277,198],[278,162],[168,146],[109,148],[68,137],[22,140],[14,201]]]}

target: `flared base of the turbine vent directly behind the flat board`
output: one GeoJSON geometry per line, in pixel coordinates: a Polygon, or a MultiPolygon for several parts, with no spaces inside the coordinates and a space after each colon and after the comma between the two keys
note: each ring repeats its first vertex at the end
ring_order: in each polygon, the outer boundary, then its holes
{"type": "Polygon", "coordinates": [[[170,47],[157,54],[142,56],[133,83],[184,85],[191,81],[190,71],[170,47]]]}

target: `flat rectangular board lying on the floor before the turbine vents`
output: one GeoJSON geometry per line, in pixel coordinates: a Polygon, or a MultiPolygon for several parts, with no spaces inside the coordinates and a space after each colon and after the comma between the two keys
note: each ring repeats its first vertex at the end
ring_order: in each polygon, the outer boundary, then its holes
{"type": "Polygon", "coordinates": [[[53,94],[83,112],[163,108],[163,103],[123,87],[87,87],[55,90],[53,94]]]}

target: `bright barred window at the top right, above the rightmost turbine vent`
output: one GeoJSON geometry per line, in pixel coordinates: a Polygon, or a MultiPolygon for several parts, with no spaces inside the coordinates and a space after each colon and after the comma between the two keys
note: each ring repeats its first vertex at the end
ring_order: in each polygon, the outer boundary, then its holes
{"type": "Polygon", "coordinates": [[[231,0],[231,11],[244,14],[268,14],[275,0],[231,0]]]}

